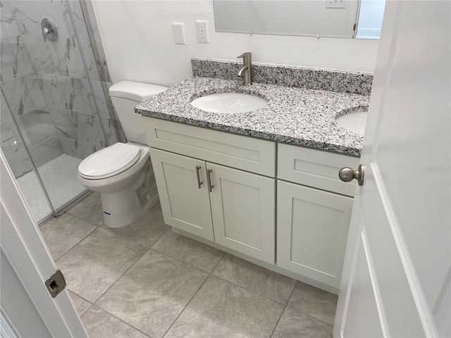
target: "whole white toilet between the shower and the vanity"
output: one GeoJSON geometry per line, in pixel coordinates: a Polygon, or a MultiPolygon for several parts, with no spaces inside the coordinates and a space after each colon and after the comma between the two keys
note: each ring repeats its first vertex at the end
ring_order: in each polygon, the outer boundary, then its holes
{"type": "Polygon", "coordinates": [[[166,89],[131,81],[118,82],[109,89],[128,143],[101,149],[78,166],[78,182],[100,192],[107,227],[133,223],[158,201],[142,116],[135,113],[134,107],[166,89]]]}

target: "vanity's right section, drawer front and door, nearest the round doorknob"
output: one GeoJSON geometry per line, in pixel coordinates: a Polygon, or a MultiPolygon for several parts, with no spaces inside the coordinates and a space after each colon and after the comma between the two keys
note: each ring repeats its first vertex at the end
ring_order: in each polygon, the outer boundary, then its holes
{"type": "Polygon", "coordinates": [[[289,144],[278,146],[277,265],[340,287],[354,182],[338,170],[359,158],[289,144]],[[285,182],[288,181],[288,182],[285,182]]]}

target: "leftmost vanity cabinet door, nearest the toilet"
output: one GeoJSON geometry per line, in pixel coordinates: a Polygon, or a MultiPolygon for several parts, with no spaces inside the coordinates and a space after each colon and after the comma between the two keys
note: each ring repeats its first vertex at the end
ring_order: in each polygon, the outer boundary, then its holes
{"type": "Polygon", "coordinates": [[[214,241],[205,162],[152,148],[150,156],[164,222],[214,241]],[[196,167],[200,167],[200,189],[196,167]]]}

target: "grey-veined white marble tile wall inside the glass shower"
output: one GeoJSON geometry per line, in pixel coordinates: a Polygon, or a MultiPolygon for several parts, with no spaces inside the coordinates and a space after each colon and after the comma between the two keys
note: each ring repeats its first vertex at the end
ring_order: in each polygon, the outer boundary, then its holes
{"type": "MultiPolygon", "coordinates": [[[[102,91],[80,2],[70,1],[80,46],[65,0],[2,0],[0,4],[0,80],[20,129],[25,130],[25,143],[37,165],[63,153],[85,158],[105,146],[93,95],[97,96],[109,142],[116,143],[109,103],[102,91]],[[55,42],[42,39],[40,21],[44,16],[54,20],[58,28],[55,42]],[[94,94],[87,81],[82,51],[94,81],[94,94]]],[[[93,28],[96,43],[101,45],[97,26],[93,28]]],[[[102,78],[109,81],[106,61],[98,62],[104,70],[102,78]]],[[[1,149],[18,177],[31,167],[4,102],[0,123],[1,149]]]]}

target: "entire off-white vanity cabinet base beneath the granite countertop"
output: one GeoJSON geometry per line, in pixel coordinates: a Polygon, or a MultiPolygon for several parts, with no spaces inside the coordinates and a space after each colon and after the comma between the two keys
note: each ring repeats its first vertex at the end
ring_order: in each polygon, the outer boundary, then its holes
{"type": "Polygon", "coordinates": [[[338,170],[359,158],[142,120],[166,224],[338,292],[355,190],[338,170]]]}

